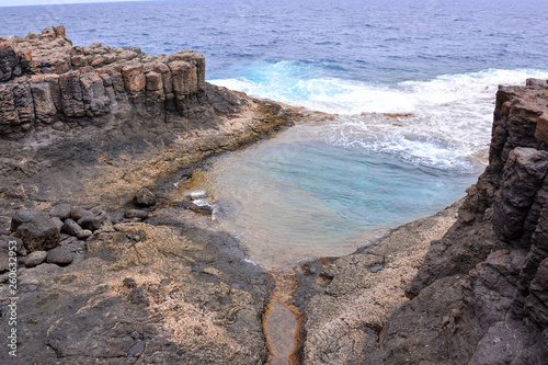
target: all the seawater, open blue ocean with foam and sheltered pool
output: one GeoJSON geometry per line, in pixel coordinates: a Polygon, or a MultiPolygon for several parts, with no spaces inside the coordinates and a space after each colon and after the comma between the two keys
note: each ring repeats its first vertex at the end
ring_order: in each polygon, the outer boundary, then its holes
{"type": "Polygon", "coordinates": [[[0,8],[0,35],[56,24],[75,45],[195,49],[212,83],[334,115],[204,172],[219,224],[265,265],[351,252],[464,196],[487,163],[498,85],[548,78],[544,0],[0,8]]]}

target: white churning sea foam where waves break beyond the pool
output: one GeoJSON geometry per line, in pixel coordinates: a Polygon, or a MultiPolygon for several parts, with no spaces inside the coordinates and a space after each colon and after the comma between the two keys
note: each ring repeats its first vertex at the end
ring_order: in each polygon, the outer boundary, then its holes
{"type": "Polygon", "coordinates": [[[249,78],[213,83],[310,110],[339,114],[321,133],[334,144],[397,153],[410,162],[461,168],[466,158],[486,162],[499,84],[548,78],[534,69],[487,69],[432,80],[367,83],[299,79],[292,62],[278,62],[249,78]],[[375,113],[375,114],[374,114],[375,113]],[[387,116],[383,113],[410,114],[387,116]],[[483,159],[481,158],[483,157],[483,159]]]}

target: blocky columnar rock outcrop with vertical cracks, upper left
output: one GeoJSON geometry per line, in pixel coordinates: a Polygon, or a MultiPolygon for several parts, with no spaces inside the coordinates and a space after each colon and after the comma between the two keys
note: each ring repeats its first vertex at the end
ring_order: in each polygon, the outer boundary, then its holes
{"type": "MultiPolygon", "coordinates": [[[[0,37],[0,136],[48,128],[102,127],[124,118],[178,122],[212,116],[205,58],[183,50],[150,56],[138,47],[72,46],[65,27],[0,37]]],[[[156,122],[158,123],[158,122],[156,122]]]]}

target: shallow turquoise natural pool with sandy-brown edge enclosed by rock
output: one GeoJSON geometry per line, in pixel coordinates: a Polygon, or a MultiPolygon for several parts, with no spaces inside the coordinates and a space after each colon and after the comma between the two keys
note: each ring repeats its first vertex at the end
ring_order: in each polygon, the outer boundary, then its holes
{"type": "Polygon", "coordinates": [[[341,142],[331,133],[338,123],[299,124],[215,159],[185,185],[213,197],[215,219],[250,260],[289,269],[351,253],[389,228],[443,209],[481,171],[466,157],[444,160],[449,148],[431,141],[407,140],[411,152],[375,149],[378,140],[367,136],[341,142]]]}

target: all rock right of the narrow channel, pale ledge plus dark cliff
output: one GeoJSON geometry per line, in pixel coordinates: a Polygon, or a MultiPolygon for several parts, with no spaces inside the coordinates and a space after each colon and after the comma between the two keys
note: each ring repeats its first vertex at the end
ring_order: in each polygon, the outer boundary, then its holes
{"type": "Polygon", "coordinates": [[[305,315],[302,362],[546,364],[547,172],[548,82],[499,88],[489,167],[424,262],[398,272],[398,250],[407,249],[409,235],[434,232],[431,226],[307,264],[316,269],[305,270],[294,294],[305,315]],[[396,258],[387,260],[379,251],[390,243],[396,258]],[[378,285],[390,275],[401,282],[378,285]]]}

